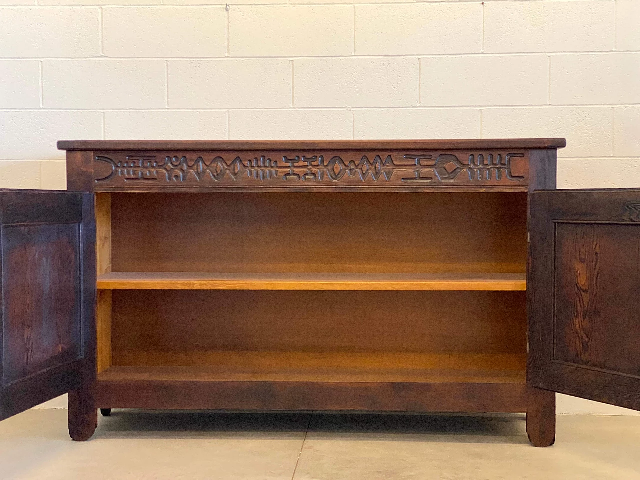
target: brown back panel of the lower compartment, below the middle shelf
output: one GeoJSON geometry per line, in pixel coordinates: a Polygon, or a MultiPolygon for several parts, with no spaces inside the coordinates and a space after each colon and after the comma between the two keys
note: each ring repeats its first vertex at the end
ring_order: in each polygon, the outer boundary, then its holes
{"type": "Polygon", "coordinates": [[[113,355],[525,353],[524,292],[113,291],[113,355]]]}

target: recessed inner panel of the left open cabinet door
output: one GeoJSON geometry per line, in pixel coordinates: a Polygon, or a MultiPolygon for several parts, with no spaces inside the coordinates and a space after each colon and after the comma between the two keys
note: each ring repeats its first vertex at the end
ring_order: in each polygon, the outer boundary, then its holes
{"type": "Polygon", "coordinates": [[[3,225],[2,235],[9,386],[81,358],[80,229],[78,223],[3,225]]]}

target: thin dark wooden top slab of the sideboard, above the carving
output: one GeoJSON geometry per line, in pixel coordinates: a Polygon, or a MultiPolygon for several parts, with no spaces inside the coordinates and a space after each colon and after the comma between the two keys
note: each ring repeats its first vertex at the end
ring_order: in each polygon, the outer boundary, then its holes
{"type": "Polygon", "coordinates": [[[429,150],[497,149],[497,148],[563,148],[564,138],[502,138],[483,140],[61,140],[60,150],[368,150],[414,148],[429,150]]]}

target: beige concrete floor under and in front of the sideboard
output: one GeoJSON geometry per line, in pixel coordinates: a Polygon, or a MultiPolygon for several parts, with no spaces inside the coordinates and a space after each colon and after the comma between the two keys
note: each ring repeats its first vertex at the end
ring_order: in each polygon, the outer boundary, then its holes
{"type": "Polygon", "coordinates": [[[0,422],[0,479],[640,480],[640,417],[559,416],[536,449],[524,415],[117,411],[72,442],[65,410],[0,422]]]}

